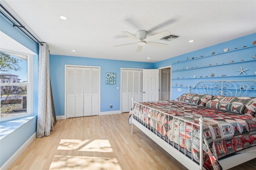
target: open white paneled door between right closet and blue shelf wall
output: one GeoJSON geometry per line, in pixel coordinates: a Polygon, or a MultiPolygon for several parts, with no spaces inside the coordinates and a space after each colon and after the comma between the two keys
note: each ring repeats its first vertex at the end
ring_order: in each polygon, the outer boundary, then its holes
{"type": "Polygon", "coordinates": [[[159,100],[159,70],[143,69],[143,102],[159,100]]]}

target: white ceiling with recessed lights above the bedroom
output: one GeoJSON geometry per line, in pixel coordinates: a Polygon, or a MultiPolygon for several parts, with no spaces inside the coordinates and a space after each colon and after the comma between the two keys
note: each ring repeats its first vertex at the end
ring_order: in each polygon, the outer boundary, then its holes
{"type": "Polygon", "coordinates": [[[156,62],[256,32],[256,0],[2,0],[53,55],[156,62]],[[68,20],[60,20],[64,15],[68,20]],[[167,47],[113,47],[169,31],[167,47]],[[189,43],[189,40],[195,40],[189,43]],[[72,52],[72,50],[76,52],[72,52]],[[147,59],[150,57],[150,59],[147,59]]]}

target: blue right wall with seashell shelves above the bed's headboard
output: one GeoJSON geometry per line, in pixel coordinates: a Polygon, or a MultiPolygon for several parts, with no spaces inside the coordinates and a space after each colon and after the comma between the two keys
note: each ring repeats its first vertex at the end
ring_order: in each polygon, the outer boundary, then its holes
{"type": "MultiPolygon", "coordinates": [[[[256,33],[156,62],[154,68],[172,65],[172,100],[187,93],[187,87],[198,81],[255,79],[256,59],[252,57],[256,55],[256,45],[253,45],[255,40],[256,33]],[[225,48],[228,48],[227,52],[224,52],[225,48]],[[240,70],[240,67],[248,69],[246,75],[238,75],[239,71],[236,70],[240,70]],[[212,73],[214,77],[211,77],[212,73]],[[178,92],[178,88],[182,91],[178,92]]],[[[255,96],[256,92],[249,93],[255,96]]]]}

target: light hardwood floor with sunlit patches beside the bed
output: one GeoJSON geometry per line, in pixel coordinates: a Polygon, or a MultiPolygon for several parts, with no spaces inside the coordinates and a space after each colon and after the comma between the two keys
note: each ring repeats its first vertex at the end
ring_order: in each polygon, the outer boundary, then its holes
{"type": "MultiPolygon", "coordinates": [[[[234,170],[255,169],[256,159],[234,170]]],[[[50,136],[36,138],[10,170],[186,169],[134,126],[128,113],[58,120],[50,136]]]]}

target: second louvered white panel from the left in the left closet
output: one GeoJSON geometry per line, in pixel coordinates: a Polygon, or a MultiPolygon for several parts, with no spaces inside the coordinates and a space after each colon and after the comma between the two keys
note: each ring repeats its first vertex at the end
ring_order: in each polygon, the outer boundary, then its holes
{"type": "Polygon", "coordinates": [[[76,67],[76,116],[84,116],[84,68],[76,67]]]}

